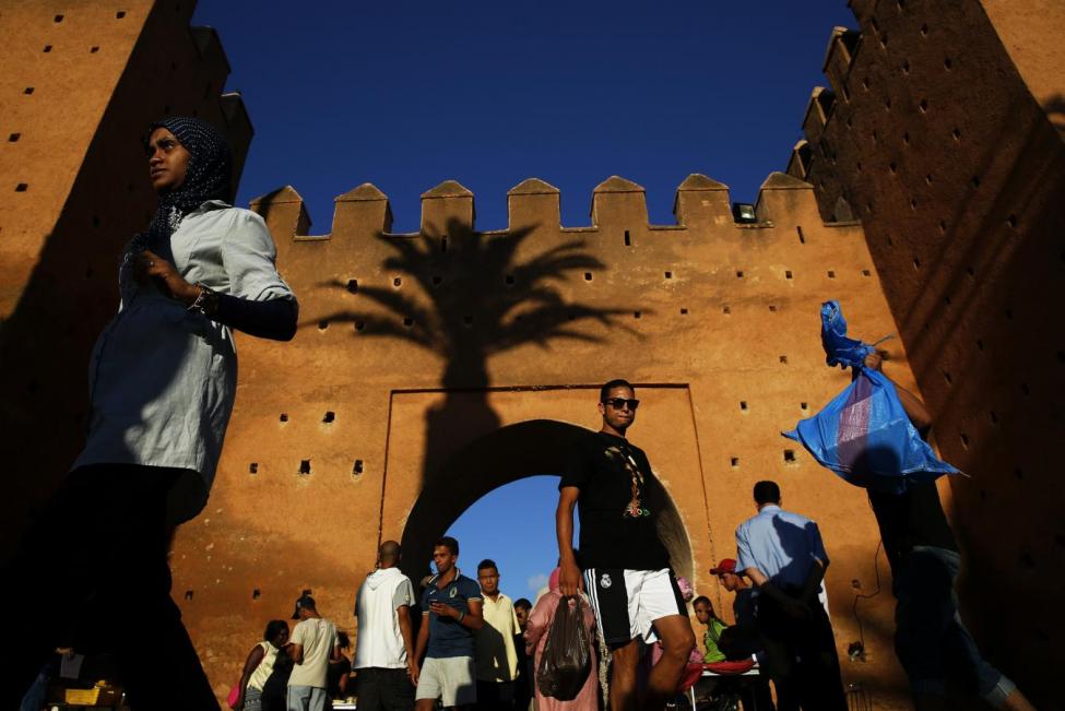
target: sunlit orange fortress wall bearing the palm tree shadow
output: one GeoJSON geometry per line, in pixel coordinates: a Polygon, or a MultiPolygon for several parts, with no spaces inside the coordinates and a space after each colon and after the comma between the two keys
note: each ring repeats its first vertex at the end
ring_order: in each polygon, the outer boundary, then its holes
{"type": "MultiPolygon", "coordinates": [[[[823,300],[840,298],[859,336],[897,331],[861,225],[823,222],[812,187],[784,174],[762,186],[755,225],[734,223],[727,188],[703,176],[679,187],[674,225],[648,224],[642,188],[618,177],[595,189],[591,227],[560,225],[558,201],[526,180],[508,194],[509,229],[478,233],[474,195],[446,181],[423,195],[418,233],[392,234],[387,197],[367,183],[336,199],[333,230],[318,236],[294,189],[253,201],[301,325],[288,344],[237,336],[215,489],[175,542],[175,597],[220,692],[305,588],[354,627],[379,536],[401,537],[418,491],[465,445],[530,419],[595,428],[593,388],[623,376],[647,403],[631,438],[679,510],[697,589],[731,613],[706,571],[734,554],[754,483],[777,478],[785,506],[821,524],[847,679],[904,708],[864,493],[780,436],[850,382],[825,365],[823,300]],[[854,594],[875,592],[877,576],[881,594],[859,604],[868,657],[852,663],[854,594]]],[[[885,348],[915,388],[901,343],[885,348]]],[[[441,507],[480,496],[455,489],[441,507]]]]}

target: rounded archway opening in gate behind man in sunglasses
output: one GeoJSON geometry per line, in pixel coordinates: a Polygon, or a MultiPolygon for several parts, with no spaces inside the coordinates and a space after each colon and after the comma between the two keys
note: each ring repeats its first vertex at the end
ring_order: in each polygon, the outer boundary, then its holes
{"type": "MultiPolygon", "coordinates": [[[[473,546],[472,541],[459,538],[459,564],[465,574],[475,577],[475,567],[482,558],[493,558],[502,568],[500,559],[521,536],[532,536],[533,543],[543,549],[536,558],[535,573],[526,578],[549,573],[557,561],[554,509],[558,476],[572,445],[578,438],[587,436],[588,431],[583,427],[557,420],[526,420],[480,437],[450,457],[438,475],[426,484],[407,517],[402,536],[404,572],[414,581],[421,580],[430,569],[433,543],[470,510],[473,516],[463,519],[461,525],[470,531],[480,531],[476,536],[478,544],[487,542],[489,545],[473,546]],[[516,482],[523,484],[504,490],[502,487],[516,482]],[[483,525],[478,524],[480,507],[476,503],[497,490],[499,494],[486,499],[488,506],[495,505],[497,499],[506,506],[525,506],[530,513],[540,512],[543,520],[537,522],[521,517],[519,525],[499,526],[494,517],[488,517],[483,525]],[[536,500],[522,501],[520,496],[523,493],[535,496],[536,500]],[[516,494],[519,497],[517,500],[516,494]]],[[[670,552],[673,569],[676,574],[690,580],[694,565],[691,545],[681,513],[661,484],[655,482],[649,496],[659,502],[659,535],[670,552]]],[[[528,596],[524,593],[528,580],[512,578],[511,582],[522,591],[517,596],[528,596]]]]}

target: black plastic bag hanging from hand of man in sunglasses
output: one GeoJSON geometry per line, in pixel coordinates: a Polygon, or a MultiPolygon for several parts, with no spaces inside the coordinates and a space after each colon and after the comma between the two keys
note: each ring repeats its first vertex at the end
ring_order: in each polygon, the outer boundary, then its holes
{"type": "Polygon", "coordinates": [[[536,687],[544,696],[572,701],[592,671],[591,642],[580,597],[563,597],[547,631],[536,669],[536,687]],[[570,601],[576,604],[570,605],[570,601]]]}

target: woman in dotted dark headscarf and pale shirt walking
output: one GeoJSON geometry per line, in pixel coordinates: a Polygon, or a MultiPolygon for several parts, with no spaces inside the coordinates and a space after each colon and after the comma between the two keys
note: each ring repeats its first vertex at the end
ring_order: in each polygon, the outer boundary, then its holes
{"type": "Polygon", "coordinates": [[[68,635],[116,655],[134,710],[218,708],[170,600],[169,526],[199,513],[214,479],[236,390],[232,329],[291,340],[297,305],[262,218],[225,202],[224,137],[167,118],[144,145],[158,206],[121,257],[119,312],[90,364],[85,449],[5,571],[33,594],[4,593],[17,643],[3,645],[3,708],[68,635]]]}

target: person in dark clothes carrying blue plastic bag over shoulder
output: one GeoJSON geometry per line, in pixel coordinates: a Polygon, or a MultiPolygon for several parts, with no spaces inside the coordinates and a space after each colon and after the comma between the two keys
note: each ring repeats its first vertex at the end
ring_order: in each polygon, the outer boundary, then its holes
{"type": "Polygon", "coordinates": [[[852,382],[784,436],[868,491],[894,578],[896,654],[915,708],[946,708],[949,679],[995,708],[1032,709],[1014,683],[981,657],[958,614],[960,556],[935,484],[958,470],[926,441],[928,410],[883,372],[873,346],[847,337],[837,301],[821,306],[821,342],[828,365],[852,368],[852,382]]]}

